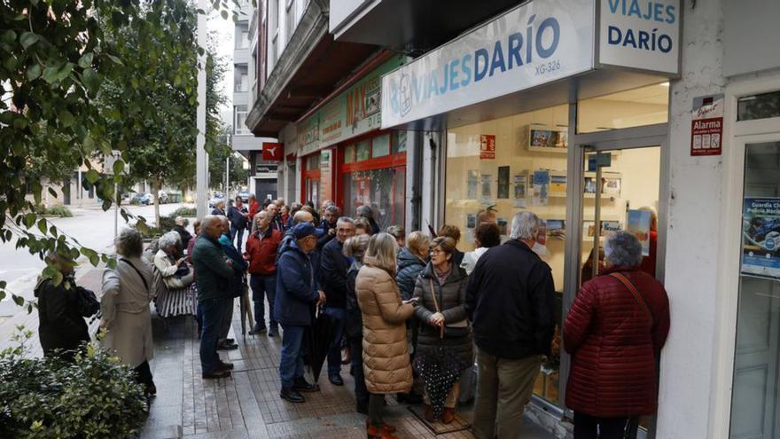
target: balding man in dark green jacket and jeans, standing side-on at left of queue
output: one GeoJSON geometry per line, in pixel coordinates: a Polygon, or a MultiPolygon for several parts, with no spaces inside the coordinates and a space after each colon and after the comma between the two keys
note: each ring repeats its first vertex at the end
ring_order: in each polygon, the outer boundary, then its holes
{"type": "Polygon", "coordinates": [[[216,352],[217,338],[227,289],[233,277],[232,262],[225,256],[219,238],[222,222],[219,216],[203,218],[202,231],[192,248],[192,264],[198,277],[198,306],[202,315],[200,367],[203,378],[230,376],[232,365],[222,362],[216,352]]]}

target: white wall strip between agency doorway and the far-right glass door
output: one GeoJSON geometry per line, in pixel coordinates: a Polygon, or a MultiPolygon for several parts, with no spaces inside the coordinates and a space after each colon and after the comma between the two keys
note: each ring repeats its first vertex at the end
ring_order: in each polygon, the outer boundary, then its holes
{"type": "Polygon", "coordinates": [[[690,111],[692,98],[723,90],[723,0],[684,5],[683,74],[671,82],[668,138],[665,285],[672,324],[661,357],[656,437],[710,439],[722,160],[690,157],[690,111]]]}

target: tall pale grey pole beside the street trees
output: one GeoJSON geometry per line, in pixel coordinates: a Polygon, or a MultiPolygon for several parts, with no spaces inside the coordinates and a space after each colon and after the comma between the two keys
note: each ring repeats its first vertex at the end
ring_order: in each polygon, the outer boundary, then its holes
{"type": "MultiPolygon", "coordinates": [[[[198,0],[198,8],[208,11],[207,0],[198,0]]],[[[206,35],[208,34],[208,21],[206,13],[198,14],[198,46],[203,54],[198,55],[198,137],[196,140],[196,190],[198,191],[195,206],[198,218],[206,216],[207,192],[208,192],[208,165],[206,156],[206,35]]]]}

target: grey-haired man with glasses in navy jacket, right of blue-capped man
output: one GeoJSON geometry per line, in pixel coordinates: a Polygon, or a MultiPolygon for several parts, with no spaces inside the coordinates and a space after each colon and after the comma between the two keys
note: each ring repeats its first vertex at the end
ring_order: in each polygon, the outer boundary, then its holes
{"type": "MultiPolygon", "coordinates": [[[[331,207],[334,208],[334,207],[331,207]]],[[[331,208],[325,210],[325,215],[332,213],[331,208]]],[[[328,304],[324,309],[336,324],[333,331],[331,347],[328,349],[328,380],[334,386],[343,386],[341,379],[341,339],[344,336],[344,319],[347,317],[347,270],[349,260],[344,255],[344,241],[355,236],[355,221],[342,216],[336,222],[336,239],[332,239],[323,247],[320,255],[320,284],[323,287],[328,304]]]]}

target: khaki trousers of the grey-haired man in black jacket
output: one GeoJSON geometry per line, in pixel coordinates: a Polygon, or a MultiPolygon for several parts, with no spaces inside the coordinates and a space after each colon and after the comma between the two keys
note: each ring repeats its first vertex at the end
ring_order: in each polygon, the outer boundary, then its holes
{"type": "Polygon", "coordinates": [[[523,412],[534,391],[542,357],[502,358],[477,349],[477,365],[480,375],[474,403],[474,437],[517,437],[523,424],[523,412]]]}

